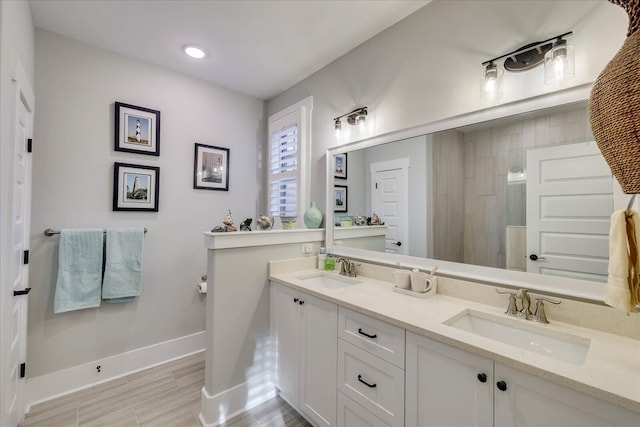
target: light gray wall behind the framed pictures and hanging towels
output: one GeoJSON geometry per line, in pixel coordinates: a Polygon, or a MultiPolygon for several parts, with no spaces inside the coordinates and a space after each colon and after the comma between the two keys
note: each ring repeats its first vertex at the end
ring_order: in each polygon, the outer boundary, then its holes
{"type": "Polygon", "coordinates": [[[203,331],[202,231],[255,215],[263,101],[41,30],[36,66],[30,376],[203,331]],[[160,110],[160,157],[114,151],[115,101],[160,110]],[[192,188],[196,142],[230,148],[228,192],[192,188]],[[159,212],[112,211],[114,162],[160,167],[159,212]],[[149,229],[140,298],[53,314],[59,237],[43,230],[131,226],[149,229]]]}

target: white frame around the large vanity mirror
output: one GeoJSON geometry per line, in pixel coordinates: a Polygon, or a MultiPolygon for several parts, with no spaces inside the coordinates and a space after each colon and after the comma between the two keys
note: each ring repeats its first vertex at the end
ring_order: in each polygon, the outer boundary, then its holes
{"type": "Polygon", "coordinates": [[[605,284],[578,279],[545,276],[528,272],[504,270],[429,258],[413,257],[409,255],[395,255],[384,252],[374,252],[364,249],[334,246],[333,228],[335,217],[333,212],[333,156],[357,149],[372,147],[392,141],[413,138],[420,135],[433,134],[440,131],[468,126],[475,123],[500,119],[518,114],[525,114],[545,108],[568,105],[588,101],[592,83],[574,86],[568,89],[548,94],[514,101],[483,110],[473,111],[440,120],[426,122],[406,129],[399,129],[381,135],[375,135],[343,145],[331,147],[326,151],[326,209],[325,214],[325,245],[331,248],[335,255],[368,260],[373,263],[395,266],[401,263],[403,267],[430,270],[438,265],[438,274],[460,280],[503,285],[507,287],[526,287],[532,291],[554,294],[571,299],[584,300],[591,303],[603,304],[605,284]]]}

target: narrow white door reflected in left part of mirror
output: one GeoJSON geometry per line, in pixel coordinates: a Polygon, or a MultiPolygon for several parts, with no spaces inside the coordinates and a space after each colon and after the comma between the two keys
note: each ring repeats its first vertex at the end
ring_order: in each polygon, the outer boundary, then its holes
{"type": "Polygon", "coordinates": [[[371,210],[387,226],[385,252],[409,254],[409,159],[372,163],[371,210]]]}

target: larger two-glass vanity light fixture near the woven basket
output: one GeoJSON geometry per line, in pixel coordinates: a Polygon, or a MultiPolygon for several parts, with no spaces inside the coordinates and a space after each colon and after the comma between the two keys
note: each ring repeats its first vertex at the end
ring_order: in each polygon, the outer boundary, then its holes
{"type": "Polygon", "coordinates": [[[544,82],[557,83],[575,76],[573,46],[567,44],[565,37],[573,31],[560,34],[541,42],[530,43],[513,52],[505,53],[482,63],[484,83],[483,96],[497,98],[502,95],[502,70],[496,61],[506,58],[503,68],[506,71],[526,71],[544,62],[544,82]]]}

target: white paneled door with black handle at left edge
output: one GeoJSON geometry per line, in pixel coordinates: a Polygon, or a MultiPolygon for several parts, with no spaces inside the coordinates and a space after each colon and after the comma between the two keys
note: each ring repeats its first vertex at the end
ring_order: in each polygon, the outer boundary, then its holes
{"type": "Polygon", "coordinates": [[[2,377],[5,384],[5,401],[2,402],[0,423],[15,426],[24,417],[24,375],[21,369],[26,359],[27,338],[27,293],[29,291],[29,269],[25,251],[29,245],[29,209],[31,200],[31,156],[27,154],[27,143],[32,137],[34,97],[28,80],[19,63],[16,64],[14,81],[15,109],[13,115],[12,160],[10,175],[10,206],[4,213],[11,215],[10,248],[3,247],[3,256],[8,262],[9,282],[2,284],[3,299],[9,298],[2,307],[2,377]],[[6,417],[6,418],[4,418],[6,417]]]}

